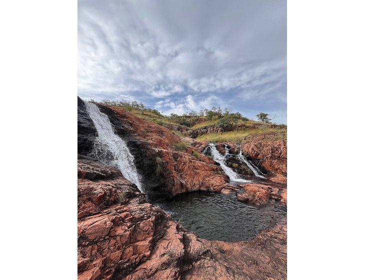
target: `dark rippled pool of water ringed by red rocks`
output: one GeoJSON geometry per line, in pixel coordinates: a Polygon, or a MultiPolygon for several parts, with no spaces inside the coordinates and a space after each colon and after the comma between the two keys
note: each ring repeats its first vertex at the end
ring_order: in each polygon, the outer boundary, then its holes
{"type": "Polygon", "coordinates": [[[257,208],[221,193],[181,193],[157,205],[184,228],[209,240],[251,240],[273,223],[272,209],[257,208]]]}

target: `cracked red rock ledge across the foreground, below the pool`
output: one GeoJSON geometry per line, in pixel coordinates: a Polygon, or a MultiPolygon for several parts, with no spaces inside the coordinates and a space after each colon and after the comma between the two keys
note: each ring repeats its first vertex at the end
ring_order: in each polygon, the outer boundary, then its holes
{"type": "Polygon", "coordinates": [[[78,279],[284,279],[285,223],[248,242],[200,239],[118,170],[78,159],[78,279]]]}

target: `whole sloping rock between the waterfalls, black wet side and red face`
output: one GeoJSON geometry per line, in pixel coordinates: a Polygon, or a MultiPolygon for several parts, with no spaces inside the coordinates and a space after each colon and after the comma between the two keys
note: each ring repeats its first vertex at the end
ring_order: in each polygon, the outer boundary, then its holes
{"type": "Polygon", "coordinates": [[[122,108],[98,106],[108,115],[115,133],[127,139],[137,167],[144,177],[156,182],[155,188],[175,195],[194,190],[220,191],[227,185],[228,178],[219,165],[193,145],[179,146],[182,139],[171,130],[122,108]]]}

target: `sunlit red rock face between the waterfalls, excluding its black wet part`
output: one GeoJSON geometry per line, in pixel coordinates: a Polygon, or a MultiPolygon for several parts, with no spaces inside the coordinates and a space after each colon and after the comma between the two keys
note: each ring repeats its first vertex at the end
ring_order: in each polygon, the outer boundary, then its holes
{"type": "Polygon", "coordinates": [[[111,109],[125,127],[129,127],[130,133],[146,141],[145,148],[149,150],[150,156],[154,156],[153,161],[157,156],[162,159],[161,176],[171,195],[194,190],[220,191],[227,185],[228,177],[211,158],[200,153],[199,149],[188,145],[184,150],[177,151],[173,144],[182,139],[171,130],[139,118],[122,108],[104,107],[111,109]],[[192,155],[193,151],[199,152],[198,158],[192,155]]]}

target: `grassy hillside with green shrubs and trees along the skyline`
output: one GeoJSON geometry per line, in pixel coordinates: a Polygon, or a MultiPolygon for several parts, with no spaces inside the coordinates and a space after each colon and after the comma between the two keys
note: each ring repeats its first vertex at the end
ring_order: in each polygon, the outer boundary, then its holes
{"type": "Polygon", "coordinates": [[[102,103],[125,109],[135,116],[153,121],[173,130],[180,137],[188,136],[200,141],[246,143],[255,137],[259,137],[262,141],[286,139],[285,124],[248,119],[240,113],[231,113],[229,109],[223,112],[220,108],[212,107],[199,113],[192,111],[189,114],[166,116],[135,101],[103,100],[102,103]]]}

